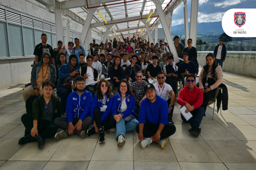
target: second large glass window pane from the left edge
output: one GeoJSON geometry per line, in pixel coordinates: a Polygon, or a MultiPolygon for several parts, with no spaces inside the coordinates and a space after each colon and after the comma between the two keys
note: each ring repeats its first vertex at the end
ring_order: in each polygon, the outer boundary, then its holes
{"type": "Polygon", "coordinates": [[[22,29],[19,25],[8,24],[9,42],[12,47],[10,56],[24,56],[22,29]]]}

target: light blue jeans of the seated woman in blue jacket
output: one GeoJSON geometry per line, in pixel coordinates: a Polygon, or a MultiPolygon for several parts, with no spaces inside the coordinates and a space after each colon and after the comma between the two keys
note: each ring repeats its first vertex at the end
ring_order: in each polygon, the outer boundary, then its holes
{"type": "Polygon", "coordinates": [[[116,123],[116,140],[119,135],[125,136],[125,132],[130,132],[136,129],[136,126],[139,124],[138,120],[132,118],[128,121],[125,121],[124,118],[116,123]]]}

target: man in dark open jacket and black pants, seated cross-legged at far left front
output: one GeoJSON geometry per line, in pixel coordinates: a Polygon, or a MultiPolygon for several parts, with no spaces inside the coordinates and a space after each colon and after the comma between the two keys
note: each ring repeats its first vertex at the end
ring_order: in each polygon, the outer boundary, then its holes
{"type": "Polygon", "coordinates": [[[50,81],[42,83],[43,95],[34,100],[32,115],[22,115],[21,121],[26,131],[25,137],[19,139],[19,145],[37,142],[41,149],[45,145],[45,139],[56,134],[58,128],[54,125],[54,119],[61,116],[61,109],[60,100],[53,94],[53,89],[54,84],[50,81]]]}

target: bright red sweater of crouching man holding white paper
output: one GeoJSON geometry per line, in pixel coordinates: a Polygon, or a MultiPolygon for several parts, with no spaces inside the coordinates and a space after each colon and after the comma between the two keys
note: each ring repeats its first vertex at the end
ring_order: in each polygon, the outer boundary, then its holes
{"type": "Polygon", "coordinates": [[[190,91],[188,90],[187,85],[185,85],[179,93],[177,103],[181,106],[186,106],[188,103],[195,109],[199,108],[203,103],[203,91],[196,86],[190,91]]]}

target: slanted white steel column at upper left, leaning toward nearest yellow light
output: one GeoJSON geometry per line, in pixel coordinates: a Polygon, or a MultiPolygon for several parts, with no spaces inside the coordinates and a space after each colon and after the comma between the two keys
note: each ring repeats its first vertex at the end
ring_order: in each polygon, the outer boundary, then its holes
{"type": "MultiPolygon", "coordinates": [[[[97,10],[97,8],[89,8],[86,16],[86,20],[84,21],[83,30],[80,36],[80,46],[83,46],[86,35],[88,33],[89,27],[91,27],[91,20],[93,19],[93,14],[97,10]]],[[[91,41],[91,39],[89,40],[91,41]]]]}

